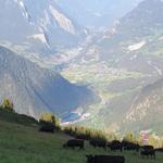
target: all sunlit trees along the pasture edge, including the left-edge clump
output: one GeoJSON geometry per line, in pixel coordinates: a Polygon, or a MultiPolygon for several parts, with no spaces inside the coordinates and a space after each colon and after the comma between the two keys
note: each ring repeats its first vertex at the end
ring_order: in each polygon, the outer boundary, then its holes
{"type": "MultiPolygon", "coordinates": [[[[3,99],[0,109],[8,112],[15,112],[14,104],[10,99],[3,99]]],[[[135,136],[133,133],[128,133],[123,138],[118,138],[115,133],[105,133],[103,130],[98,130],[93,128],[88,128],[85,126],[66,125],[61,127],[61,121],[58,116],[52,113],[41,113],[39,117],[39,124],[43,126],[53,125],[55,130],[62,130],[65,134],[84,140],[98,140],[98,141],[112,141],[112,140],[125,140],[134,143],[143,145],[143,139],[141,136],[135,136]]],[[[155,135],[149,135],[149,145],[154,147],[163,148],[163,139],[155,138],[155,135]]]]}

